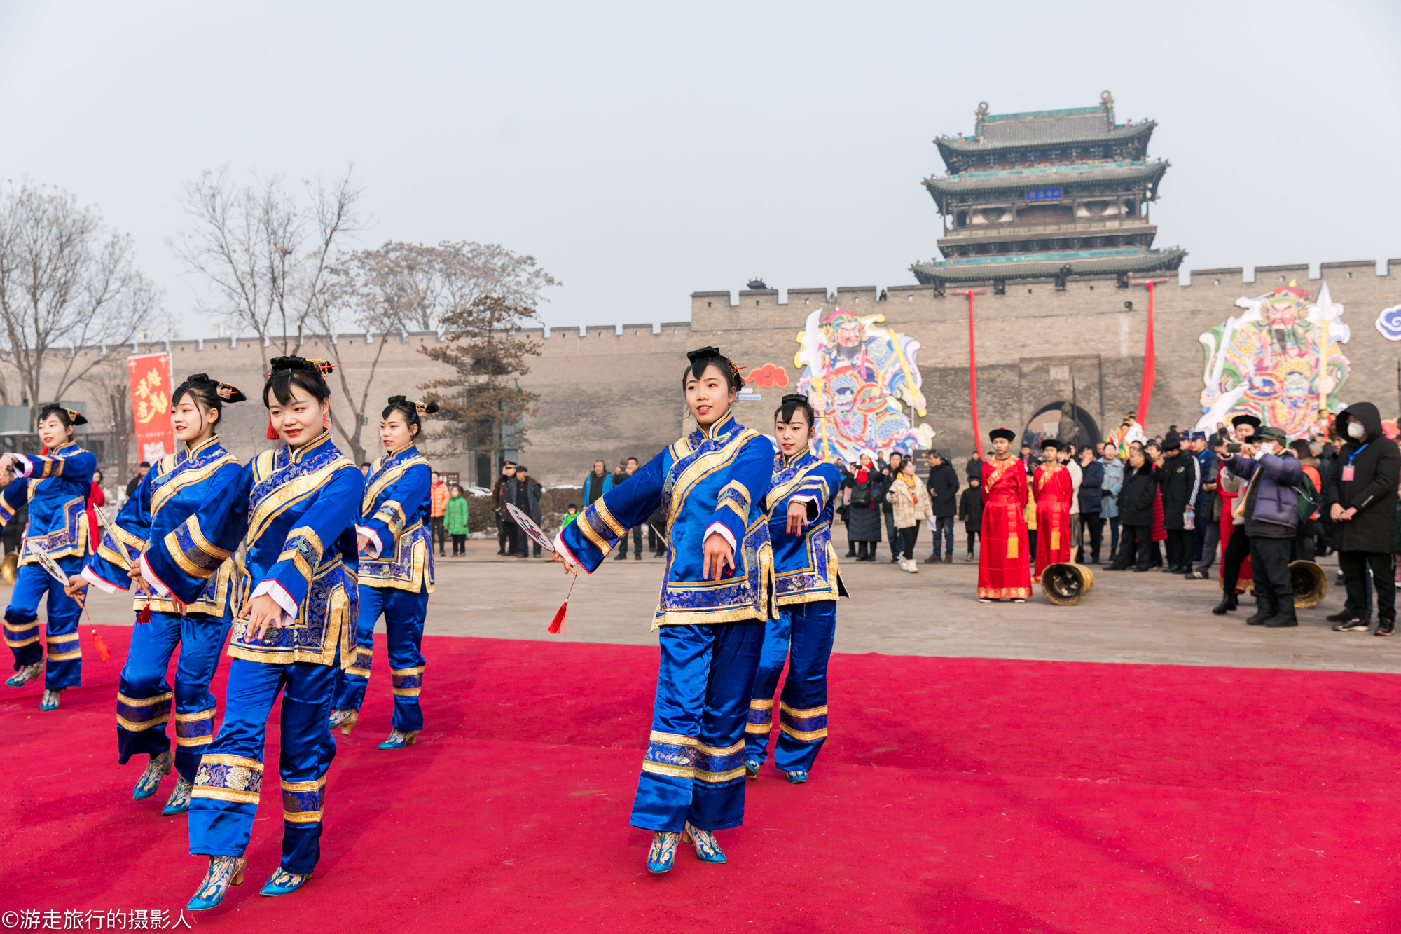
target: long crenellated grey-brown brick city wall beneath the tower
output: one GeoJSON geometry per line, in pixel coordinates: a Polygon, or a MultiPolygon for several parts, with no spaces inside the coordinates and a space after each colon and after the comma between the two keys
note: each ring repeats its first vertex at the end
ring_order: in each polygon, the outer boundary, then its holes
{"type": "MultiPolygon", "coordinates": [[[[1401,259],[1388,271],[1401,271],[1401,259]]],[[[1188,278],[1157,287],[1157,381],[1149,411],[1149,432],[1170,422],[1185,428],[1199,412],[1203,348],[1198,335],[1238,314],[1238,297],[1254,297],[1278,285],[1297,280],[1317,297],[1327,282],[1332,300],[1345,307],[1351,328],[1344,352],[1352,373],[1345,401],[1370,400],[1384,417],[1401,412],[1398,359],[1401,342],[1387,341],[1373,323],[1383,307],[1401,304],[1401,276],[1377,275],[1370,259],[1325,262],[1320,276],[1307,265],[1257,266],[1247,282],[1241,269],[1198,269],[1188,278]]],[[[919,372],[927,400],[923,421],[936,432],[934,446],[965,457],[974,446],[968,397],[968,303],[961,295],[937,296],[933,286],[887,286],[887,302],[877,302],[874,286],[838,289],[836,306],[859,316],[883,314],[885,327],[920,342],[919,372]]],[[[776,290],[696,292],[691,296],[691,321],[579,328],[537,328],[524,337],[541,341],[541,356],[521,386],[541,394],[539,412],[530,419],[530,439],[520,453],[535,477],[546,484],[579,484],[594,459],[612,468],[628,456],[643,460],[671,443],[682,431],[684,404],[679,373],[685,351],[713,344],[748,369],[761,372],[768,386],[757,386],[761,401],[740,405],[741,421],[765,426],[778,398],[797,386],[793,356],[797,334],[814,310],[828,310],[825,289],[789,289],[786,302],[776,290]],[[548,337],[546,337],[548,334],[548,337]],[[768,369],[765,369],[768,367],[768,369]],[[782,373],[779,373],[782,370],[782,373]],[[783,380],[786,384],[779,384],[783,380]]],[[[1063,292],[1051,282],[1009,283],[1007,295],[975,296],[978,410],[984,432],[1006,425],[1016,431],[1044,407],[1075,402],[1103,433],[1118,425],[1124,412],[1138,405],[1143,367],[1147,293],[1119,289],[1110,279],[1075,279],[1063,292]],[[1132,303],[1132,309],[1125,307],[1132,303]]],[[[618,317],[632,317],[625,310],[618,317]]],[[[419,394],[419,386],[451,370],[417,351],[439,342],[434,334],[394,338],[380,358],[370,398],[378,405],[391,394],[419,394]]],[[[361,335],[339,335],[352,393],[364,390],[375,342],[361,335]]],[[[143,344],[132,352],[167,349],[164,342],[143,344]]],[[[307,356],[325,356],[325,338],[310,338],[307,356]]],[[[263,356],[248,338],[172,341],[171,372],[175,380],[207,372],[245,390],[256,390],[265,372],[263,356]]],[[[99,353],[81,349],[80,355],[99,353]]],[[[13,369],[0,360],[11,404],[18,386],[13,369]]],[[[332,405],[349,417],[339,377],[332,377],[332,405]]],[[[66,394],[88,400],[92,388],[80,384],[66,394]]],[[[90,412],[94,411],[90,402],[90,412]]],[[[363,426],[361,443],[375,450],[377,408],[363,426]]],[[[266,426],[262,405],[254,400],[227,410],[223,436],[228,447],[247,459],[263,450],[266,426]]],[[[986,445],[984,445],[986,446],[986,445]]],[[[478,481],[475,463],[467,457],[439,459],[443,470],[460,471],[478,481]]]]}

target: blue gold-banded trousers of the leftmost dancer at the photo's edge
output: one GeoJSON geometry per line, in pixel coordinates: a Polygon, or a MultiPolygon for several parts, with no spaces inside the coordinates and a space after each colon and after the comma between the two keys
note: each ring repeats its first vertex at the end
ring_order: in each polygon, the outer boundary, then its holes
{"type": "MultiPolygon", "coordinates": [[[[57,558],[69,576],[83,569],[81,555],[57,558]]],[[[49,621],[45,627],[49,658],[43,668],[43,686],[49,690],[77,687],[83,683],[83,648],[78,645],[78,617],[83,607],[63,592],[38,564],[24,564],[15,572],[14,592],[4,611],[4,642],[14,652],[14,670],[43,661],[39,647],[39,600],[49,597],[49,621]]]]}

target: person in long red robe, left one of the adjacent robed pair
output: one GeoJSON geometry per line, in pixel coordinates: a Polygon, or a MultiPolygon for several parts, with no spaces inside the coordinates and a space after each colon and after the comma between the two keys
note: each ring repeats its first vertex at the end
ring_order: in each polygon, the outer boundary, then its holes
{"type": "Polygon", "coordinates": [[[1006,428],[989,433],[992,459],[982,464],[982,548],[978,551],[978,600],[1026,603],[1031,596],[1027,562],[1027,466],[1012,456],[1017,436],[1006,428]]]}

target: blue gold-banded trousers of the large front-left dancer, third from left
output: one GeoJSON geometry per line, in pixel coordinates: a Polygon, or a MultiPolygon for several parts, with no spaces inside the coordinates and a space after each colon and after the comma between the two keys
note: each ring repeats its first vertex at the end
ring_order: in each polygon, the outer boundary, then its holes
{"type": "Polygon", "coordinates": [[[235,658],[228,666],[224,722],[199,763],[189,802],[189,851],[242,855],[263,784],[268,717],[282,693],[282,868],[310,874],[321,858],[326,770],[336,756],[326,718],[340,662],[269,665],[235,658]]]}

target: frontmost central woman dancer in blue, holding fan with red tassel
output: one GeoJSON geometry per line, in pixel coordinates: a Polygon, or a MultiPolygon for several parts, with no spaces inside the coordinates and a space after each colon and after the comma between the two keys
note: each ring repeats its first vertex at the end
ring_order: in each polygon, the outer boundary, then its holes
{"type": "Polygon", "coordinates": [[[653,830],[650,872],[671,869],[685,836],[724,862],[712,832],[744,820],[744,722],[769,614],[772,554],[764,494],[773,447],[730,412],[744,387],[713,346],[681,374],[696,429],[584,509],[556,537],[555,560],[593,572],[658,506],[667,510],[667,576],[653,628],[661,663],[651,739],[632,826],[653,830]]]}

